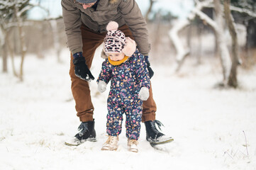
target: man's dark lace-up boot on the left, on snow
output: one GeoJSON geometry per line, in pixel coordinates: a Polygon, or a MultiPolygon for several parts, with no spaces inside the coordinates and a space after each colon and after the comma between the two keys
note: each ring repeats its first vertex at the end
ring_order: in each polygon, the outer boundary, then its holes
{"type": "Polygon", "coordinates": [[[65,142],[65,145],[78,146],[86,141],[96,142],[94,123],[94,120],[89,122],[82,122],[78,127],[80,132],[78,132],[77,135],[74,135],[72,140],[65,142]]]}

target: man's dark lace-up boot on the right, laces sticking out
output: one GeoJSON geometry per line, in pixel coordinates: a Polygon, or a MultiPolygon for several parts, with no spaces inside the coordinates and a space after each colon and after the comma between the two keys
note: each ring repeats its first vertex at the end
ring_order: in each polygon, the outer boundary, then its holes
{"type": "Polygon", "coordinates": [[[159,130],[157,130],[155,127],[155,124],[157,124],[158,128],[161,130],[160,127],[162,126],[162,123],[159,120],[150,120],[145,122],[147,132],[146,140],[148,140],[151,145],[160,145],[167,142],[172,142],[172,137],[167,137],[162,132],[159,132],[159,130]]]}

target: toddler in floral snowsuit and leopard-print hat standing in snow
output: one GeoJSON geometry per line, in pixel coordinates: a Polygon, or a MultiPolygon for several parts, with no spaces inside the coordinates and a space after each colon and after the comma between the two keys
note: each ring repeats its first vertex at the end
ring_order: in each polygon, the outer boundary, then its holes
{"type": "Polygon", "coordinates": [[[101,93],[106,91],[108,81],[111,81],[111,89],[107,100],[108,140],[101,150],[118,148],[118,135],[121,134],[125,113],[128,149],[138,152],[142,106],[149,97],[150,89],[147,64],[144,56],[136,50],[135,41],[118,30],[118,23],[111,21],[106,29],[104,52],[108,58],[102,63],[97,82],[101,93]]]}

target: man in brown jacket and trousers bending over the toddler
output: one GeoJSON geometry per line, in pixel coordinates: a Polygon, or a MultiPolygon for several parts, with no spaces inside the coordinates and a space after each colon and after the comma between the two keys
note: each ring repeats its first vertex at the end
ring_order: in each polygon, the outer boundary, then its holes
{"type": "MultiPolygon", "coordinates": [[[[79,145],[87,140],[95,141],[94,130],[94,106],[91,103],[91,95],[88,81],[94,80],[89,71],[94,52],[106,36],[106,25],[109,21],[116,21],[126,36],[137,42],[138,50],[145,56],[150,72],[150,78],[154,74],[148,61],[150,44],[148,42],[148,30],[145,19],[135,0],[62,0],[62,13],[67,34],[67,45],[71,51],[69,75],[72,81],[72,94],[76,103],[77,116],[82,122],[79,125],[80,132],[66,145],[79,145]]],[[[155,127],[162,125],[155,120],[157,110],[152,98],[143,102],[142,120],[145,123],[146,139],[152,145],[171,142],[172,137],[167,137],[155,127]]]]}

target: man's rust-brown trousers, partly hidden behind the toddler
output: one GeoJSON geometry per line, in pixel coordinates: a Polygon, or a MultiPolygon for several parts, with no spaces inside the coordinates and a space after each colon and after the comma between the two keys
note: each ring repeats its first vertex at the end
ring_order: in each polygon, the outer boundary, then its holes
{"type": "MultiPolygon", "coordinates": [[[[133,38],[132,33],[128,26],[124,25],[118,28],[118,30],[123,31],[123,33],[130,38],[133,38]]],[[[99,45],[104,41],[106,36],[105,33],[96,33],[93,30],[87,28],[87,26],[81,26],[82,41],[83,41],[83,56],[85,57],[86,64],[91,68],[91,62],[94,58],[94,52],[99,45]]],[[[79,79],[79,77],[74,75],[74,64],[72,62],[73,56],[71,54],[70,60],[70,70],[69,75],[71,77],[72,94],[74,96],[74,101],[76,103],[77,116],[80,121],[87,122],[93,120],[94,106],[91,103],[91,93],[89,89],[89,84],[87,81],[79,79]]],[[[101,63],[99,63],[101,64],[101,63]]],[[[97,79],[97,77],[95,77],[97,79]]],[[[142,121],[155,120],[155,112],[157,106],[152,97],[152,87],[150,88],[150,97],[147,101],[143,101],[143,116],[142,121]]]]}

